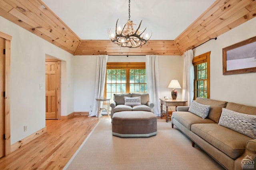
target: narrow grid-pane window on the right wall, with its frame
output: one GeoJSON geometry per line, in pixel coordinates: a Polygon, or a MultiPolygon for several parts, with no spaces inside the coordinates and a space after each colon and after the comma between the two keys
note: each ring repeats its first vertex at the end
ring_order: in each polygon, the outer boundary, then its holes
{"type": "Polygon", "coordinates": [[[210,52],[196,56],[194,65],[194,100],[210,98],[210,52]]]}

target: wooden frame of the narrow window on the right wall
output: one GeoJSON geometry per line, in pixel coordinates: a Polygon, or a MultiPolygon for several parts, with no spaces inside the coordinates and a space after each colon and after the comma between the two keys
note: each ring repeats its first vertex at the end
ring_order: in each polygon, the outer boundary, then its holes
{"type": "MultiPolygon", "coordinates": [[[[198,55],[198,56],[196,56],[196,57],[194,57],[193,58],[193,60],[192,60],[192,63],[193,63],[193,66],[194,66],[194,68],[195,68],[195,66],[196,65],[198,65],[198,64],[202,64],[202,63],[207,63],[206,65],[207,65],[207,78],[206,78],[206,83],[207,83],[207,89],[206,89],[206,91],[207,91],[207,98],[210,98],[210,51],[209,52],[207,52],[207,53],[204,53],[204,54],[201,54],[201,55],[198,55]]],[[[197,79],[196,79],[196,75],[197,75],[197,71],[196,70],[194,70],[194,100],[196,100],[196,88],[197,88],[197,86],[196,86],[196,81],[198,81],[197,79]]]]}

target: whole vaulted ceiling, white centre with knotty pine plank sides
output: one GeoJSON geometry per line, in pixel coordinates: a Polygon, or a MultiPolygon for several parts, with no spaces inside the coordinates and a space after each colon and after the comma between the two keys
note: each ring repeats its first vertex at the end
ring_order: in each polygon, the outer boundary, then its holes
{"type": "Polygon", "coordinates": [[[132,0],[130,8],[152,31],[133,49],[107,33],[128,19],[128,0],[0,0],[0,16],[73,55],[182,55],[256,16],[256,0],[132,0]]]}

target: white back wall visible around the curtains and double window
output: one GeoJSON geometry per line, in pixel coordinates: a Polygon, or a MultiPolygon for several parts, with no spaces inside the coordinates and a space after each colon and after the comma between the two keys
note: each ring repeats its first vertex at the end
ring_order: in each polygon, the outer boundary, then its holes
{"type": "MultiPolygon", "coordinates": [[[[74,58],[74,111],[91,111],[94,102],[96,56],[74,58]]],[[[108,56],[108,62],[145,62],[145,56],[108,56]]],[[[160,98],[171,97],[170,81],[176,78],[182,86],[183,57],[158,56],[160,98]]],[[[178,89],[181,99],[181,90],[178,89]]]]}

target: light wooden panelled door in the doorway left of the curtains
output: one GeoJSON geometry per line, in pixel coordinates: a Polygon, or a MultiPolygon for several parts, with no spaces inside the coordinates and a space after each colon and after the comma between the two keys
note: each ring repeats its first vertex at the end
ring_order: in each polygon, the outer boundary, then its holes
{"type": "Polygon", "coordinates": [[[45,62],[46,119],[60,119],[60,61],[45,62]]]}

